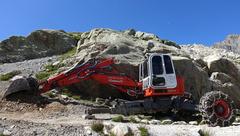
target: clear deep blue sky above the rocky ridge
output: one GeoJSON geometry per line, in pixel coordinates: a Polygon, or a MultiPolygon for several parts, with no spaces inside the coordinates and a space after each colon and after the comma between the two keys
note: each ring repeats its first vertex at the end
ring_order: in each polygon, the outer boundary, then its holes
{"type": "Polygon", "coordinates": [[[211,45],[240,34],[239,7],[239,0],[1,0],[0,41],[36,29],[104,27],[211,45]]]}

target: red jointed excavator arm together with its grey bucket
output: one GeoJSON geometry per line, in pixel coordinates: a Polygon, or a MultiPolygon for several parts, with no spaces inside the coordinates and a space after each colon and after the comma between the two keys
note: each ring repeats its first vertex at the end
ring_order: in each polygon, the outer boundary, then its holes
{"type": "Polygon", "coordinates": [[[44,81],[37,81],[32,77],[18,77],[10,82],[10,85],[6,87],[7,89],[2,89],[4,90],[2,98],[19,91],[38,91],[41,94],[54,88],[62,88],[90,79],[115,87],[131,96],[136,96],[137,93],[142,94],[141,82],[120,73],[114,67],[115,62],[117,61],[113,58],[90,59],[44,81]]]}

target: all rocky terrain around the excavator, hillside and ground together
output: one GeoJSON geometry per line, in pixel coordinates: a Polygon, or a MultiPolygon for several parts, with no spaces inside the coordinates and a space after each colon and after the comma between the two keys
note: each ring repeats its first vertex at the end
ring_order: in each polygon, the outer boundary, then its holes
{"type": "MultiPolygon", "coordinates": [[[[232,42],[222,44],[225,43],[232,42]]],[[[231,50],[217,47],[179,46],[174,42],[162,40],[154,34],[133,29],[115,31],[100,28],[84,33],[37,30],[27,37],[13,36],[0,42],[0,74],[20,71],[17,74],[35,76],[42,71],[40,78],[46,78],[59,70],[68,69],[79,61],[94,57],[114,57],[120,62],[116,67],[121,72],[136,77],[137,65],[144,60],[147,53],[170,53],[173,56],[176,73],[186,79],[186,91],[192,93],[193,98],[199,100],[208,91],[220,90],[229,94],[240,107],[238,104],[240,103],[240,56],[231,50]],[[69,50],[72,51],[66,53],[69,50]],[[59,54],[61,56],[52,56],[59,54]],[[122,66],[124,68],[121,68],[122,66]]],[[[5,83],[7,81],[0,81],[0,91],[5,83]]],[[[99,93],[102,90],[107,96],[119,95],[105,93],[117,91],[113,91],[113,88],[99,87],[95,82],[83,82],[77,88],[94,95],[102,95],[99,93]]],[[[146,129],[149,135],[153,136],[240,135],[239,118],[232,126],[223,128],[200,125],[196,121],[173,122],[170,117],[150,119],[135,116],[134,120],[137,120],[137,123],[130,123],[131,121],[117,123],[111,119],[119,117],[118,115],[98,114],[95,115],[96,119],[88,120],[83,117],[84,111],[97,105],[92,101],[77,98],[78,100],[74,100],[62,94],[50,98],[49,95],[39,97],[21,93],[1,100],[0,135],[103,135],[103,133],[142,135],[143,130],[139,128],[146,129]],[[96,123],[104,125],[103,132],[97,133],[92,130],[91,126],[96,123]]],[[[124,120],[131,119],[124,117],[124,120]]]]}

